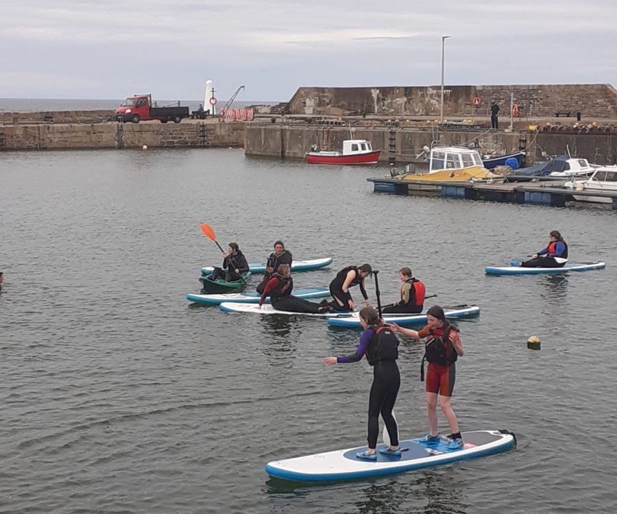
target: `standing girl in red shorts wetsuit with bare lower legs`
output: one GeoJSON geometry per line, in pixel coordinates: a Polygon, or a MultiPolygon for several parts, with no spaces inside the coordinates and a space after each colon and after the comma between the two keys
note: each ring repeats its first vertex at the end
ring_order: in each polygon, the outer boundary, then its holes
{"type": "MultiPolygon", "coordinates": [[[[452,399],[457,373],[456,360],[459,356],[463,356],[463,343],[461,343],[457,330],[448,323],[444,309],[434,305],[428,309],[427,317],[428,325],[419,332],[411,330],[411,328],[402,328],[396,323],[391,323],[388,326],[394,332],[413,337],[415,340],[428,338],[424,358],[428,360],[426,413],[430,431],[422,440],[426,443],[439,442],[440,436],[437,432],[437,395],[439,395],[441,412],[446,416],[452,432],[448,437],[450,439],[448,448],[456,450],[463,447],[463,438],[459,430],[457,415],[450,406],[450,400],[452,399]]],[[[422,380],[424,380],[424,358],[422,358],[422,372],[420,374],[422,380]]]]}

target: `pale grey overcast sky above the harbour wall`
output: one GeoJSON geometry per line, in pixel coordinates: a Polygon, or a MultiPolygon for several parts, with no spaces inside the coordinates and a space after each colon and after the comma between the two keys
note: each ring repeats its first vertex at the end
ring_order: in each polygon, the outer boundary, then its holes
{"type": "Polygon", "coordinates": [[[0,97],[285,101],[300,86],[617,87],[616,0],[1,0],[0,97]]]}

